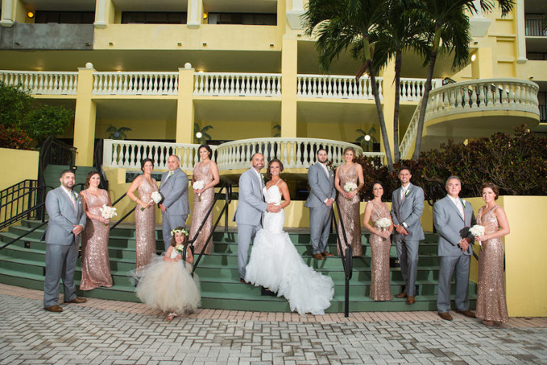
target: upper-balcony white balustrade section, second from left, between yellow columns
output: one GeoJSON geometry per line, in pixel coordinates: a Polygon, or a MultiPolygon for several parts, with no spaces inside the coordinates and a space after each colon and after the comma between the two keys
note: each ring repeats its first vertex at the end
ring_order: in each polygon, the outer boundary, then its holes
{"type": "Polygon", "coordinates": [[[177,72],[93,72],[95,95],[177,95],[177,72]]]}

